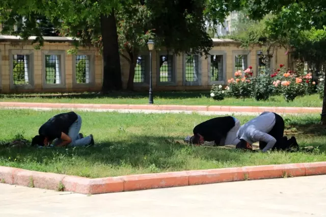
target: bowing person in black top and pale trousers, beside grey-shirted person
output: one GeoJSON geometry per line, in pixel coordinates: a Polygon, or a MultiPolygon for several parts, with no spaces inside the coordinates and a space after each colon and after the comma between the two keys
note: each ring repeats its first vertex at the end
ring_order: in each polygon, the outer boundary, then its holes
{"type": "Polygon", "coordinates": [[[240,127],[240,121],[234,117],[217,117],[198,124],[190,139],[192,144],[202,144],[205,141],[214,141],[215,145],[236,145],[239,140],[236,133],[240,127]]]}

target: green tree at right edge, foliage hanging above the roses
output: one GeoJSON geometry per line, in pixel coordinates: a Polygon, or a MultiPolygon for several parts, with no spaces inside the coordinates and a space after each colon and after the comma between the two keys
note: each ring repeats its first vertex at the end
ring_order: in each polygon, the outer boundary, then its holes
{"type": "MultiPolygon", "coordinates": [[[[310,52],[312,57],[317,58],[315,59],[317,62],[323,60],[323,55],[318,58],[315,54],[319,53],[318,48],[322,49],[324,46],[325,1],[242,0],[242,4],[249,9],[247,15],[253,19],[261,19],[266,14],[273,14],[274,18],[266,22],[270,37],[290,38],[289,43],[296,49],[295,53],[298,57],[309,59],[304,55],[305,49],[308,48],[307,53],[310,52]]],[[[326,85],[321,123],[326,125],[326,85]]]]}

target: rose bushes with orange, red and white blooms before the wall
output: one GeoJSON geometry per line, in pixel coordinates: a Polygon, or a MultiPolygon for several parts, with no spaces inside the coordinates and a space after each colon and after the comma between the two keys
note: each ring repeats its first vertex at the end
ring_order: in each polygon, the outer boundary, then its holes
{"type": "Polygon", "coordinates": [[[323,96],[323,78],[319,79],[319,87],[312,80],[311,73],[304,74],[286,69],[280,65],[273,74],[253,76],[252,67],[234,73],[234,78],[228,80],[228,86],[223,90],[222,86],[213,86],[210,96],[215,100],[223,100],[225,97],[249,98],[257,101],[267,100],[270,96],[283,95],[289,102],[297,96],[313,94],[318,91],[323,96]]]}

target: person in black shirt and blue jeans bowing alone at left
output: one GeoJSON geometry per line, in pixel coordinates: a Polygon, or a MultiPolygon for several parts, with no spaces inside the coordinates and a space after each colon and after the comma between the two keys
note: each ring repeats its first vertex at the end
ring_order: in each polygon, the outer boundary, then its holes
{"type": "Polygon", "coordinates": [[[39,135],[32,140],[32,145],[48,146],[55,141],[57,147],[76,147],[94,145],[93,135],[83,137],[79,133],[82,118],[74,112],[62,113],[50,118],[39,129],[39,135]]]}

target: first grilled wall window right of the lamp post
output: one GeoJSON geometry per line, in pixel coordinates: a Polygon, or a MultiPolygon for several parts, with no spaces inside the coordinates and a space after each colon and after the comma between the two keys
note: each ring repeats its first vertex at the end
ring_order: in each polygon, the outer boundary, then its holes
{"type": "Polygon", "coordinates": [[[173,55],[160,55],[159,56],[159,81],[160,82],[173,82],[173,55]]]}

